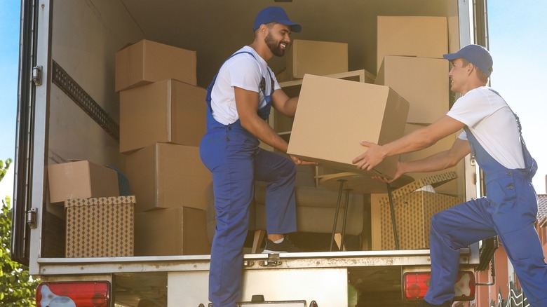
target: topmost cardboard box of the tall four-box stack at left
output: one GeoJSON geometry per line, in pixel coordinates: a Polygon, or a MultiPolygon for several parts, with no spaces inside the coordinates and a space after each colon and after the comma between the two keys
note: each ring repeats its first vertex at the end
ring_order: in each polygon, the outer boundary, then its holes
{"type": "Polygon", "coordinates": [[[116,92],[165,79],[195,86],[196,51],[143,39],[116,53],[116,92]]]}

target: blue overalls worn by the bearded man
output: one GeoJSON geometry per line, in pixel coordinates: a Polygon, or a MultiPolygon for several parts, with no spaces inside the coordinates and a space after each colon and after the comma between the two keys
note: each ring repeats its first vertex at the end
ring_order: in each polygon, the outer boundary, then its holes
{"type": "MultiPolygon", "coordinates": [[[[213,118],[210,93],[215,80],[216,76],[208,86],[207,133],[200,146],[201,160],[212,172],[217,212],[211,247],[209,299],[214,307],[235,307],[241,296],[243,243],[248,233],[254,182],[269,183],[266,186],[266,232],[295,232],[296,165],[288,158],[259,148],[259,140],[245,130],[239,120],[224,125],[213,118]]],[[[266,106],[257,114],[264,120],[269,116],[271,94],[274,93],[271,81],[270,95],[265,93],[264,78],[260,83],[266,106]]]]}

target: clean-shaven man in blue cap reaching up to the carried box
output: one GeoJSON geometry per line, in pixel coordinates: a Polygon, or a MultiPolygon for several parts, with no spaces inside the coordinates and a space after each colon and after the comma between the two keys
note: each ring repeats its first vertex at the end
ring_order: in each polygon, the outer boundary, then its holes
{"type": "Polygon", "coordinates": [[[442,118],[394,142],[379,146],[361,142],[368,150],[353,159],[371,170],[387,156],[424,149],[463,129],[452,148],[427,158],[400,162],[392,182],[406,172],[450,168],[468,153],[485,172],[487,196],[461,203],[431,219],[431,282],[422,306],[452,306],[459,250],[499,236],[520,285],[532,307],[547,307],[547,264],[534,228],[537,197],[532,177],[537,165],[520,131],[520,121],[505,100],[487,87],[492,57],[478,45],[468,45],[450,60],[450,89],[461,97],[442,118]]]}

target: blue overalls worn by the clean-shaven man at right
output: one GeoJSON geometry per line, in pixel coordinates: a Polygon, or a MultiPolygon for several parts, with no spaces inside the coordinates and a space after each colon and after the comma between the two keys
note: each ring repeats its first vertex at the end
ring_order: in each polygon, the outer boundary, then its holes
{"type": "MultiPolygon", "coordinates": [[[[532,307],[547,307],[547,264],[534,228],[537,196],[532,186],[536,161],[524,141],[526,167],[498,163],[465,128],[471,153],[485,172],[487,196],[454,206],[431,219],[431,282],[425,300],[440,305],[454,298],[459,249],[499,236],[532,307]]],[[[519,123],[520,130],[520,123],[519,123]]]]}

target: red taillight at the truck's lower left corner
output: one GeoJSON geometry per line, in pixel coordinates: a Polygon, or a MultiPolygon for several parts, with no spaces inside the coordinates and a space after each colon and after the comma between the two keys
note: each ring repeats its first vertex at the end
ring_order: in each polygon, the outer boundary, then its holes
{"type": "Polygon", "coordinates": [[[109,307],[109,282],[42,282],[37,307],[109,307]]]}

